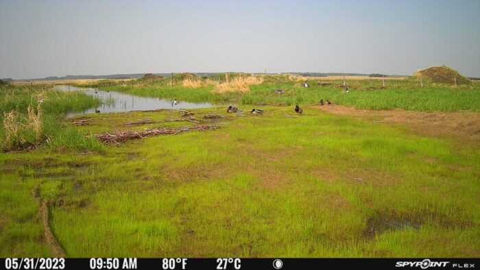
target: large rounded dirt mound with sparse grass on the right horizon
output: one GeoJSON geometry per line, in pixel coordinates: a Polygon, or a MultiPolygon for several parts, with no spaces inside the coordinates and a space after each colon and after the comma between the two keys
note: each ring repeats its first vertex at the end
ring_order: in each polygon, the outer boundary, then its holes
{"type": "Polygon", "coordinates": [[[413,77],[420,76],[424,79],[430,79],[431,82],[437,84],[455,84],[455,78],[457,79],[457,84],[470,84],[470,79],[448,66],[431,66],[413,74],[413,77]]]}

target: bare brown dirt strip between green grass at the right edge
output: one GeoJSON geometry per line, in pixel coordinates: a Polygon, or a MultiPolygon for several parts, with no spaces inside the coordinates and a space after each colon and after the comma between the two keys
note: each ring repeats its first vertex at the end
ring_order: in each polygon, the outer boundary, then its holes
{"type": "Polygon", "coordinates": [[[333,114],[376,123],[407,123],[427,136],[454,136],[480,146],[480,112],[416,112],[410,110],[357,110],[349,106],[315,106],[333,114]]]}

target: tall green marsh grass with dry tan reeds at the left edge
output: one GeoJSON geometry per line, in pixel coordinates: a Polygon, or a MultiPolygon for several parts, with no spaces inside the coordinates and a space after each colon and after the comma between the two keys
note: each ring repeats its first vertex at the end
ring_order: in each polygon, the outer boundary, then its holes
{"type": "Polygon", "coordinates": [[[12,87],[0,92],[3,151],[38,147],[47,143],[51,149],[101,151],[101,145],[73,127],[62,127],[60,121],[69,110],[81,110],[98,104],[82,93],[45,91],[43,86],[12,87]]]}

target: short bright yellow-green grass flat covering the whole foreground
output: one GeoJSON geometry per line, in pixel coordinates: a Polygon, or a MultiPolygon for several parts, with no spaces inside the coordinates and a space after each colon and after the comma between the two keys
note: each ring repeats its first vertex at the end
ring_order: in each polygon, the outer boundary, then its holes
{"type": "MultiPolygon", "coordinates": [[[[315,106],[264,109],[101,154],[0,154],[0,256],[49,255],[36,185],[67,256],[479,256],[478,147],[315,106]]],[[[226,116],[195,117],[215,111],[226,116]]],[[[94,114],[75,128],[172,116],[94,114]]]]}

